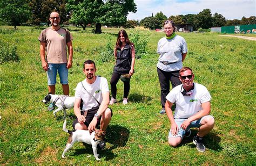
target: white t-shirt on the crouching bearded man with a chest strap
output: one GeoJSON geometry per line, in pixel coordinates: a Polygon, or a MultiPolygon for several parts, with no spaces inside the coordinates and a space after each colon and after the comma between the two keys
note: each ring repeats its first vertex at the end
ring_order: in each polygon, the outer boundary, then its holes
{"type": "Polygon", "coordinates": [[[96,81],[92,84],[86,82],[86,79],[82,81],[84,88],[91,93],[91,95],[83,88],[82,83],[79,82],[76,87],[75,98],[82,99],[84,102],[83,110],[90,110],[93,107],[99,106],[95,98],[99,103],[102,103],[102,93],[109,92],[109,85],[104,77],[96,77],[96,81]],[[93,98],[92,95],[95,97],[93,98]]]}

